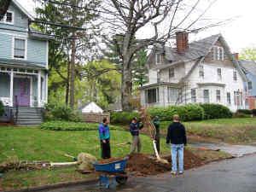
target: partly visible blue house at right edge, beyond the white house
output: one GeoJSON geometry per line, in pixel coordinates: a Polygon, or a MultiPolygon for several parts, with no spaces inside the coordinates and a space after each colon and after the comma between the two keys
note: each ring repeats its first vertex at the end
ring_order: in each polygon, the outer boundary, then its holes
{"type": "Polygon", "coordinates": [[[239,60],[243,73],[247,76],[247,108],[256,108],[256,62],[239,60]]]}

